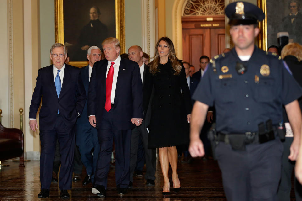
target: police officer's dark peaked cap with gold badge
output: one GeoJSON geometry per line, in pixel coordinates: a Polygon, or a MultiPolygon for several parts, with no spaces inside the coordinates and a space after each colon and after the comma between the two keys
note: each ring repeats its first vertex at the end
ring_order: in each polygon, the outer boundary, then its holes
{"type": "Polygon", "coordinates": [[[230,25],[257,24],[265,18],[263,11],[256,5],[248,2],[233,2],[225,8],[230,25]]]}

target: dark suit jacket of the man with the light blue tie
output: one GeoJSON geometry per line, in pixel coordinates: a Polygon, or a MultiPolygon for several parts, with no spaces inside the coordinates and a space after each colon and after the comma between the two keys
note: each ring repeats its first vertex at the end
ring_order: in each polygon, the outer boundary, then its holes
{"type": "Polygon", "coordinates": [[[53,65],[39,69],[36,87],[31,98],[29,118],[36,119],[37,111],[43,96],[39,113],[40,130],[52,130],[57,118],[58,109],[67,127],[75,125],[78,113],[81,114],[86,95],[80,76],[80,69],[65,64],[64,78],[58,98],[53,78],[53,65]]]}

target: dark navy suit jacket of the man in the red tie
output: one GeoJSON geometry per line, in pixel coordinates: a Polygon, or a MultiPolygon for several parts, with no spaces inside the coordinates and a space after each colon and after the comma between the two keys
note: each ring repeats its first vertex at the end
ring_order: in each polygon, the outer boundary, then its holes
{"type": "MultiPolygon", "coordinates": [[[[107,60],[94,63],[88,89],[88,116],[95,115],[96,128],[106,102],[107,60]]],[[[118,130],[134,127],[131,118],[143,118],[143,87],[139,66],[124,58],[120,60],[114,99],[114,126],[118,130]]]]}

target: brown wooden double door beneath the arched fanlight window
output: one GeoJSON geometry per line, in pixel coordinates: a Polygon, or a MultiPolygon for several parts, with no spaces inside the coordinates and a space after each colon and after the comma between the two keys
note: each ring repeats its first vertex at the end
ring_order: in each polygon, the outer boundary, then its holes
{"type": "Polygon", "coordinates": [[[221,54],[224,48],[224,16],[182,17],[182,58],[195,66],[195,71],[200,69],[200,56],[212,58],[221,54]]]}

